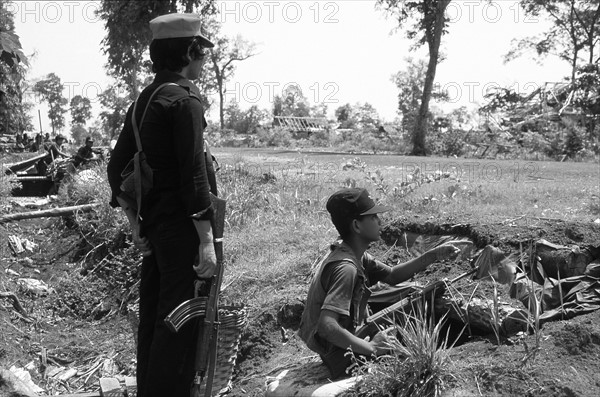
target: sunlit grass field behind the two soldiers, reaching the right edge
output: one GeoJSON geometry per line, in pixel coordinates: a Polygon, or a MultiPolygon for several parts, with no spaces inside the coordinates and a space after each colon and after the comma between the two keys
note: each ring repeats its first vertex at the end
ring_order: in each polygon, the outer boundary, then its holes
{"type": "Polygon", "coordinates": [[[319,251],[336,238],[325,203],[341,187],[366,187],[391,205],[394,211],[383,214],[384,223],[600,218],[598,164],[214,152],[228,201],[227,296],[256,309],[280,298],[277,291],[290,285],[290,277],[306,277],[319,251]]]}

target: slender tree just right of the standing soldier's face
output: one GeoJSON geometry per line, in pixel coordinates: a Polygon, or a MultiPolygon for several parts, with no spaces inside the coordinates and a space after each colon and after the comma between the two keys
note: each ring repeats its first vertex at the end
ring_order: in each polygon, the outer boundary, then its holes
{"type": "Polygon", "coordinates": [[[212,37],[216,37],[215,47],[209,54],[208,69],[210,73],[207,73],[206,76],[214,78],[216,82],[215,88],[219,94],[219,123],[221,128],[224,128],[225,83],[235,72],[234,62],[244,61],[256,55],[256,45],[245,40],[241,35],[233,38],[221,36],[219,34],[221,25],[215,18],[208,19],[206,29],[212,37]]]}

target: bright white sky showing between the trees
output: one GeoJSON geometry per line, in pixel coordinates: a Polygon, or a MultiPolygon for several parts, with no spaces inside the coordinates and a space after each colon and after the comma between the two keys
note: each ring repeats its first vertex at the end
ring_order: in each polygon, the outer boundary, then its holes
{"type": "MultiPolygon", "coordinates": [[[[13,1],[10,7],[24,52],[33,54],[28,78],[56,73],[65,97],[88,97],[96,117],[97,95],[112,82],[100,44],[104,24],[94,13],[99,2],[13,1]]],[[[368,102],[384,120],[393,121],[398,89],[392,76],[403,70],[407,57],[427,59],[426,46],[411,48],[413,42],[394,31],[397,22],[376,9],[373,0],[228,0],[218,2],[218,8],[221,34],[256,43],[257,54],[238,62],[226,85],[226,101],[237,100],[242,109],[271,109],[274,95],[296,85],[310,104],[325,102],[330,117],[346,103],[368,102]]],[[[441,46],[445,59],[436,75],[436,89],[450,96],[446,110],[484,104],[483,94],[493,86],[526,93],[569,73],[568,64],[551,57],[543,64],[527,56],[503,62],[512,39],[540,34],[547,26],[527,18],[518,1],[454,0],[447,15],[450,25],[441,46]]],[[[45,104],[32,110],[36,130],[38,109],[48,131],[45,104]]],[[[218,120],[217,109],[215,102],[210,120],[218,120]]]]}

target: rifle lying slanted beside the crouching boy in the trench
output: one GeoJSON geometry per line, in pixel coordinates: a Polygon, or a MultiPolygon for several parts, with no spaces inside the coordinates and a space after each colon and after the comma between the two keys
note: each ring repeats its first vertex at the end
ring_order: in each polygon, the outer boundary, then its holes
{"type": "Polygon", "coordinates": [[[394,303],[386,307],[383,310],[378,311],[367,317],[365,320],[365,325],[356,330],[354,335],[358,336],[361,339],[366,338],[367,336],[372,337],[383,327],[388,327],[394,325],[394,313],[406,313],[408,308],[412,308],[413,305],[421,300],[421,299],[429,299],[430,297],[435,297],[439,294],[442,294],[446,290],[446,284],[452,284],[462,278],[465,278],[477,271],[477,268],[469,270],[458,277],[450,280],[449,282],[446,280],[436,281],[434,283],[428,284],[422,290],[413,292],[406,298],[394,303]]]}

